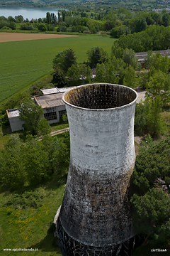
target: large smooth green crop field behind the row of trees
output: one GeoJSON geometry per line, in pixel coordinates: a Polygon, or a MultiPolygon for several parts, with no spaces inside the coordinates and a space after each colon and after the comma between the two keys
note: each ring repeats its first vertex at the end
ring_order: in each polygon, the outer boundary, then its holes
{"type": "Polygon", "coordinates": [[[115,39],[109,36],[79,36],[0,43],[0,105],[14,93],[24,90],[52,72],[55,55],[67,48],[75,50],[78,61],[86,60],[86,51],[99,46],[108,53],[115,39]]]}

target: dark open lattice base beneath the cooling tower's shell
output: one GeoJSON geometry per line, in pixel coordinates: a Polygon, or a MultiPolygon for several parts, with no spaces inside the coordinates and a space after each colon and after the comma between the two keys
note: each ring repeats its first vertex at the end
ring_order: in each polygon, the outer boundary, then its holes
{"type": "Polygon", "coordinates": [[[144,242],[145,238],[135,235],[129,240],[116,245],[95,247],[84,245],[74,240],[62,228],[60,218],[57,218],[57,236],[60,242],[60,250],[64,256],[130,256],[134,247],[144,242]]]}

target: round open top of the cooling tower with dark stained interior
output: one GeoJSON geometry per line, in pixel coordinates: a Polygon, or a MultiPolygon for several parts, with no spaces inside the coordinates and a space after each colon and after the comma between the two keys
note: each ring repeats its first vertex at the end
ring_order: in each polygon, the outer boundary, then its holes
{"type": "Polygon", "coordinates": [[[137,101],[137,92],[124,85],[94,83],[67,90],[62,100],[72,107],[106,110],[134,104],[137,101]]]}

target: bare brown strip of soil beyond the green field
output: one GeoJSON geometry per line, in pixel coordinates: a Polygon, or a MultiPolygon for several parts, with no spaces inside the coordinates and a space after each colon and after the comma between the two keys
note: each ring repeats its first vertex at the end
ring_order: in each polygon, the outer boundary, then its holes
{"type": "Polygon", "coordinates": [[[36,39],[48,39],[48,38],[67,38],[76,35],[59,35],[48,33],[0,33],[0,43],[12,42],[12,41],[26,41],[36,39]]]}

